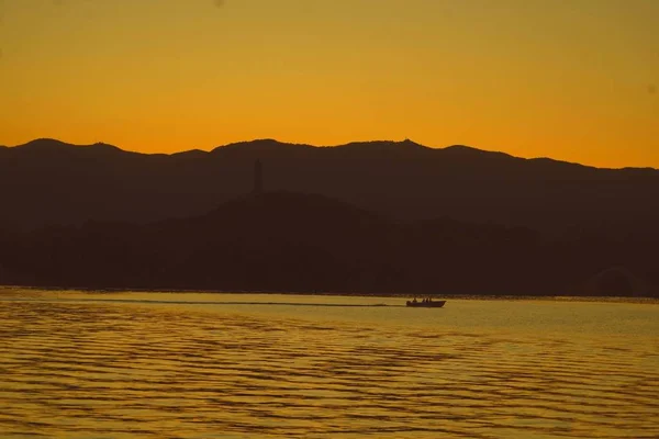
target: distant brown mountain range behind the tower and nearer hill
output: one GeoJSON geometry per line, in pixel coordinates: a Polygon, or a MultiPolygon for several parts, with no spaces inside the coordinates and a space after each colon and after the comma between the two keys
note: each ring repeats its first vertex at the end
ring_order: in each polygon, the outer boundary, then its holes
{"type": "Polygon", "coordinates": [[[257,158],[269,190],[319,193],[400,221],[450,216],[551,233],[658,233],[655,169],[597,169],[412,140],[314,147],[260,139],[146,155],[37,139],[0,148],[0,226],[201,215],[249,191],[257,158]]]}

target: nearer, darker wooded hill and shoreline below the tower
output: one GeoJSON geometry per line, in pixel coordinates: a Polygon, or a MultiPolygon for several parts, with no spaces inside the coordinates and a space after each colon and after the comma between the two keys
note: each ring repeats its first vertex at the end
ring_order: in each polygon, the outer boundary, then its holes
{"type": "Polygon", "coordinates": [[[258,192],[188,218],[0,234],[0,283],[355,294],[657,296],[659,241],[447,217],[401,222],[258,192]]]}

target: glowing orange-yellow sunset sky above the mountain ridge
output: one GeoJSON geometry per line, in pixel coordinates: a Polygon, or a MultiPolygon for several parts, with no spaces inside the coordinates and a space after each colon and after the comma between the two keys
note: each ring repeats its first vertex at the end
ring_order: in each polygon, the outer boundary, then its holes
{"type": "Polygon", "coordinates": [[[410,137],[659,168],[658,0],[0,0],[0,144],[410,137]]]}

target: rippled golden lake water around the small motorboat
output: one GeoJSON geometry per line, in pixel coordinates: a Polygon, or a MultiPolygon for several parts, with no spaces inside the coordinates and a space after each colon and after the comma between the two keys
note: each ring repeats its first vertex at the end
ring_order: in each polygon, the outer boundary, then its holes
{"type": "Polygon", "coordinates": [[[0,437],[659,437],[657,302],[404,300],[0,289],[0,437]]]}

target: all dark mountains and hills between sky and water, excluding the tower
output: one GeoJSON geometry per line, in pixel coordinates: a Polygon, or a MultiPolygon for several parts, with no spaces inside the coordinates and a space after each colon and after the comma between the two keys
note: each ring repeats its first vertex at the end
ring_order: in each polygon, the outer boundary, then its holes
{"type": "Polygon", "coordinates": [[[5,284],[659,295],[655,169],[411,140],[144,155],[41,139],[0,148],[0,179],[5,284]]]}

